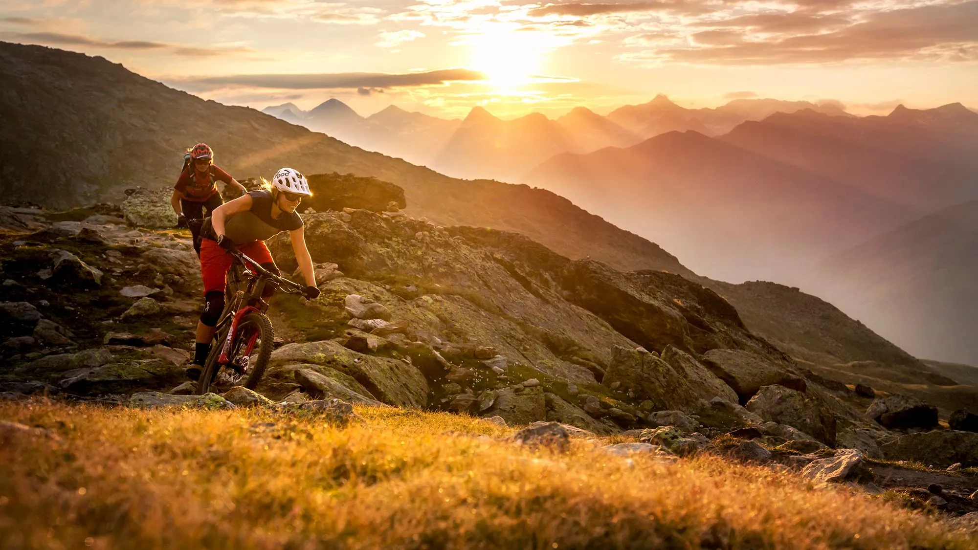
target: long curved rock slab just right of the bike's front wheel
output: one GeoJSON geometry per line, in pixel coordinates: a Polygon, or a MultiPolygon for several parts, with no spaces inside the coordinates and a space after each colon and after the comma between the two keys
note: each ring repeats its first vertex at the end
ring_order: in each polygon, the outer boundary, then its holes
{"type": "Polygon", "coordinates": [[[398,359],[357,353],[333,341],[283,345],[272,352],[271,362],[332,368],[352,377],[379,401],[390,405],[423,407],[427,403],[427,381],[415,366],[398,359]]]}

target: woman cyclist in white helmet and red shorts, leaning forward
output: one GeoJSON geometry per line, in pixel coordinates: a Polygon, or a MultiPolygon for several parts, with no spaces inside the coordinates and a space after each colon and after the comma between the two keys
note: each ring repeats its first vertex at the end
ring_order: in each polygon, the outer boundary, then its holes
{"type": "Polygon", "coordinates": [[[262,189],[218,206],[203,221],[200,227],[200,275],[204,304],[197,325],[194,362],[187,367],[187,377],[191,380],[200,378],[215,326],[224,310],[224,288],[232,261],[227,250],[237,248],[265,269],[279,273],[265,241],[288,231],[292,252],[295,252],[295,260],[307,285],[303,294],[308,299],[319,296],[312,257],[302,232],[302,218],[295,211],[303,197],[311,196],[305,176],[292,168],[282,168],[271,183],[266,181],[262,189]]]}

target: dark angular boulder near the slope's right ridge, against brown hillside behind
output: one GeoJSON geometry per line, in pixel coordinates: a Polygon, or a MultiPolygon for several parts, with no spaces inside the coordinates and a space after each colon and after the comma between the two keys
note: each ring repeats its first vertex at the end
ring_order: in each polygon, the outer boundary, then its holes
{"type": "Polygon", "coordinates": [[[768,359],[743,349],[710,349],[703,354],[705,364],[746,403],[764,386],[779,385],[804,391],[805,380],[768,359]]]}

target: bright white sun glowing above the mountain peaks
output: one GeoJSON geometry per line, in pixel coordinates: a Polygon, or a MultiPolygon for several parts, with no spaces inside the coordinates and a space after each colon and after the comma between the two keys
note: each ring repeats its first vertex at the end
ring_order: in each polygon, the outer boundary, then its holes
{"type": "Polygon", "coordinates": [[[472,69],[484,72],[497,90],[518,88],[539,70],[545,49],[530,32],[497,28],[472,40],[472,69]]]}

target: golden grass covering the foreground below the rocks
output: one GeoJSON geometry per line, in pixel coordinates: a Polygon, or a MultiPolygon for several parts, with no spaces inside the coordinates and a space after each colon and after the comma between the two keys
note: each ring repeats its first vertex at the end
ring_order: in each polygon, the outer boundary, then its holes
{"type": "Polygon", "coordinates": [[[473,418],[357,412],[337,429],[0,403],[59,437],[0,446],[0,548],[974,547],[919,512],[718,457],[626,459],[583,439],[556,455],[473,418]]]}

